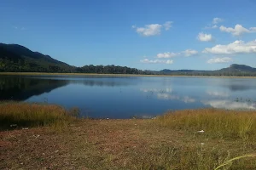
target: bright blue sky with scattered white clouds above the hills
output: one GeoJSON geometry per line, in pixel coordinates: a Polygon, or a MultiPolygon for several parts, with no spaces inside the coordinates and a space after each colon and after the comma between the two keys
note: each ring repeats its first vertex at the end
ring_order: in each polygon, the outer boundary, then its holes
{"type": "Polygon", "coordinates": [[[69,65],[256,67],[254,0],[2,0],[0,42],[69,65]]]}

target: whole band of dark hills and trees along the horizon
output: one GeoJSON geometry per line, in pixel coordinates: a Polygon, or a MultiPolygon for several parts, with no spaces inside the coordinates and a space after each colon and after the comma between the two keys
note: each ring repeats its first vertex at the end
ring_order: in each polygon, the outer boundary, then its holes
{"type": "Polygon", "coordinates": [[[181,75],[181,76],[238,76],[256,77],[256,68],[248,65],[230,65],[217,71],[162,70],[142,71],[119,65],[67,65],[18,44],[0,43],[0,72],[77,72],[98,74],[142,74],[142,75],[181,75]]]}

